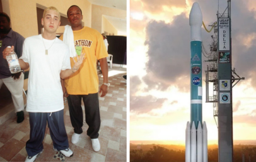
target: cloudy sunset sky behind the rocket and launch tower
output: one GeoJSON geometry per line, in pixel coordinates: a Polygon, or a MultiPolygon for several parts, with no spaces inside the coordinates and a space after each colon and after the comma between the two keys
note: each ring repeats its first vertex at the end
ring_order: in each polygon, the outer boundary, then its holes
{"type": "MultiPolygon", "coordinates": [[[[130,0],[131,141],[185,143],[185,126],[190,121],[189,12],[194,2],[199,3],[209,29],[208,25],[217,21],[218,1],[130,0]]],[[[219,13],[226,6],[226,0],[219,0],[219,13]]],[[[231,1],[232,66],[246,79],[233,88],[235,140],[256,137],[255,8],[253,0],[231,1]]],[[[214,33],[207,33],[202,27],[202,41],[208,51],[211,35],[214,33]]],[[[217,140],[213,105],[205,100],[203,82],[202,118],[207,123],[208,139],[217,140]]]]}

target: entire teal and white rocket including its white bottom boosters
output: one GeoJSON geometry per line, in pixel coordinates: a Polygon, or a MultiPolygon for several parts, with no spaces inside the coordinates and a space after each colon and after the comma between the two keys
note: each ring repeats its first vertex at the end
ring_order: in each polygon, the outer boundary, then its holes
{"type": "Polygon", "coordinates": [[[207,127],[202,124],[202,12],[194,3],[190,25],[190,122],[187,122],[185,161],[207,162],[207,127]]]}

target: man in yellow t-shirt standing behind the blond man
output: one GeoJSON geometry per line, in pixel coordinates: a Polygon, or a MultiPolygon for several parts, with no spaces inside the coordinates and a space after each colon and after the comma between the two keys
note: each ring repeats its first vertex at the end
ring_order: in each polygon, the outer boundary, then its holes
{"type": "MultiPolygon", "coordinates": [[[[74,73],[72,77],[62,80],[62,89],[64,96],[68,95],[69,114],[74,127],[72,143],[78,143],[79,136],[83,132],[83,110],[81,107],[81,99],[83,99],[86,123],[89,126],[87,135],[91,138],[93,149],[100,151],[100,141],[98,141],[98,131],[100,130],[99,82],[96,60],[100,61],[102,68],[103,84],[100,86],[100,93],[102,92],[100,97],[104,97],[110,85],[108,83],[108,53],[102,35],[92,28],[82,26],[83,15],[78,6],[71,6],[67,9],[67,19],[73,30],[75,48],[82,47],[82,53],[86,54],[86,61],[83,62],[78,72],[74,73]]],[[[63,40],[63,35],[60,39],[63,40]]],[[[73,59],[76,60],[76,57],[71,58],[71,67],[73,67],[73,59]]]]}

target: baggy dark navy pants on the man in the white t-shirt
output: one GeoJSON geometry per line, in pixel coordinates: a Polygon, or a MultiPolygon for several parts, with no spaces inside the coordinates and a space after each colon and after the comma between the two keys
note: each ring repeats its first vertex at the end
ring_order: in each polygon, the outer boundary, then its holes
{"type": "Polygon", "coordinates": [[[64,110],[57,112],[29,112],[30,116],[30,139],[26,142],[28,156],[40,153],[43,146],[46,123],[50,129],[50,137],[57,150],[69,147],[67,132],[64,126],[64,110]]]}

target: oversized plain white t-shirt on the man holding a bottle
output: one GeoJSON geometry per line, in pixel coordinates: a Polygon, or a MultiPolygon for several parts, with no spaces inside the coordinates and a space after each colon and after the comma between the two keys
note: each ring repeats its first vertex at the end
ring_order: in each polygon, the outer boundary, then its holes
{"type": "Polygon", "coordinates": [[[71,69],[68,46],[59,38],[45,40],[42,35],[30,36],[24,41],[20,59],[30,65],[26,111],[64,109],[60,73],[71,69]],[[45,49],[49,49],[48,55],[45,49]]]}

